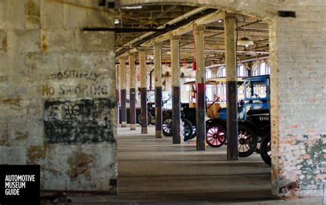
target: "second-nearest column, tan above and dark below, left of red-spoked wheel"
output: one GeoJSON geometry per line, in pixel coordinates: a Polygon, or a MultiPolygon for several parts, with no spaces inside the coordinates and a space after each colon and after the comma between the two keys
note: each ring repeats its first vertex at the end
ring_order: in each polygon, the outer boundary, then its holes
{"type": "Polygon", "coordinates": [[[204,26],[195,26],[197,150],[206,150],[204,26]]]}

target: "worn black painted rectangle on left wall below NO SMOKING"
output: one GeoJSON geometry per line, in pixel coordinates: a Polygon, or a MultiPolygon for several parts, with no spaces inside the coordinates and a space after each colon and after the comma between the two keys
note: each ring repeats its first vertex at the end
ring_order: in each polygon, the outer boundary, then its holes
{"type": "Polygon", "coordinates": [[[115,142],[110,117],[115,106],[109,98],[45,101],[45,142],[115,142]]]}

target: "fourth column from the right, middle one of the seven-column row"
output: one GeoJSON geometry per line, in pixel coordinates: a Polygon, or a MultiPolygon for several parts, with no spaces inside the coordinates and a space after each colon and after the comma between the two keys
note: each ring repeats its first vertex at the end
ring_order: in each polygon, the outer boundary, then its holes
{"type": "Polygon", "coordinates": [[[162,43],[154,43],[155,138],[162,138],[162,43]]]}

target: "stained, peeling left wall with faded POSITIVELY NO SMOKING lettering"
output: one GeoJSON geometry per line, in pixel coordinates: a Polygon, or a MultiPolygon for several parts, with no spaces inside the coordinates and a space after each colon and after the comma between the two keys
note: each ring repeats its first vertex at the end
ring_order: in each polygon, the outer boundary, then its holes
{"type": "Polygon", "coordinates": [[[116,194],[114,34],[98,1],[0,1],[0,164],[41,189],[116,194]]]}

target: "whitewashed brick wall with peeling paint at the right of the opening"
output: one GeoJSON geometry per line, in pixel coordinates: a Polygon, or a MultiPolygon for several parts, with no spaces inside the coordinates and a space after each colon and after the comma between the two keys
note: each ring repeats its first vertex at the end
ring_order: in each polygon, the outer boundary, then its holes
{"type": "Polygon", "coordinates": [[[270,23],[272,184],[276,195],[323,194],[326,178],[326,3],[285,1],[270,23]],[[296,182],[300,188],[280,193],[296,182]]]}

